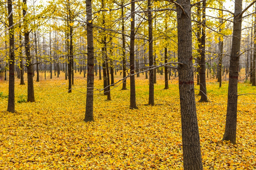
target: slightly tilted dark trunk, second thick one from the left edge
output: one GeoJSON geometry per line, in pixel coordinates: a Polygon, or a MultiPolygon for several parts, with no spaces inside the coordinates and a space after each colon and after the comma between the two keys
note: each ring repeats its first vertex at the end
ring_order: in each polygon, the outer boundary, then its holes
{"type": "Polygon", "coordinates": [[[26,17],[27,13],[27,0],[23,0],[24,8],[23,8],[23,16],[24,19],[24,44],[25,44],[25,52],[26,52],[26,60],[27,60],[27,102],[35,102],[35,94],[34,94],[34,82],[33,82],[33,64],[32,57],[30,55],[30,44],[29,44],[29,30],[28,30],[28,20],[26,17]]]}

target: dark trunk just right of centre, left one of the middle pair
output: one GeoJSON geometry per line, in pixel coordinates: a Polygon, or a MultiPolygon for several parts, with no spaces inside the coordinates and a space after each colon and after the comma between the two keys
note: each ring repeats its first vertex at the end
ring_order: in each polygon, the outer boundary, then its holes
{"type": "Polygon", "coordinates": [[[134,74],[134,43],[135,43],[135,0],[131,1],[131,34],[130,34],[130,109],[137,109],[134,74]]]}

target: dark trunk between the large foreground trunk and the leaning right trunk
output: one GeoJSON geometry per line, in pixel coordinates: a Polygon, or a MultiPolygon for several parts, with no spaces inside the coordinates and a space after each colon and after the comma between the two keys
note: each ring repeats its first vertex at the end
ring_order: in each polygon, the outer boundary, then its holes
{"type": "Polygon", "coordinates": [[[199,102],[208,102],[207,99],[207,91],[206,91],[206,80],[205,80],[205,7],[206,1],[202,3],[203,11],[202,11],[202,37],[201,37],[201,50],[200,50],[200,69],[199,69],[199,76],[200,76],[200,92],[201,92],[201,99],[199,102]]]}

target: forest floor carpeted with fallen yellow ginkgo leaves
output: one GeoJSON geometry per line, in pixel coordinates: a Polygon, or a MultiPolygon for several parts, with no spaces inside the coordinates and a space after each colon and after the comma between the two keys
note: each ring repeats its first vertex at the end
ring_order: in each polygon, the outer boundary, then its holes
{"type": "MultiPolygon", "coordinates": [[[[183,168],[181,115],[177,79],[164,90],[164,76],[155,84],[155,106],[148,102],[148,80],[136,78],[137,110],[129,109],[129,90],[94,97],[95,121],[85,123],[86,79],[75,74],[73,93],[67,80],[35,82],[36,102],[25,102],[27,85],[15,84],[16,113],[7,112],[8,82],[0,81],[0,169],[180,170],[183,168]]],[[[117,76],[118,81],[121,76],[117,76]]],[[[102,80],[95,77],[95,87],[102,80]]],[[[127,85],[129,89],[129,81],[127,85]]],[[[113,87],[112,87],[113,88],[113,87]]],[[[199,86],[195,86],[199,89],[199,86]]],[[[222,141],[228,83],[207,81],[211,102],[197,102],[202,162],[205,170],[256,169],[256,97],[238,97],[237,144],[222,141]]],[[[101,92],[96,92],[101,93],[101,92]]],[[[238,84],[238,93],[256,87],[238,84]]],[[[196,94],[198,91],[196,90],[196,94]]]]}

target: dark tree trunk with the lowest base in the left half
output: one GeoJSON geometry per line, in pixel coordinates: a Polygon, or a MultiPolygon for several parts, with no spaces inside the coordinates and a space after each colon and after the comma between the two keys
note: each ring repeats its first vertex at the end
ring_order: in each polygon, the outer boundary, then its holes
{"type": "Polygon", "coordinates": [[[91,0],[86,0],[86,28],[87,28],[87,93],[84,121],[93,121],[93,86],[94,86],[94,52],[92,31],[91,0]]]}

